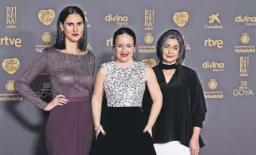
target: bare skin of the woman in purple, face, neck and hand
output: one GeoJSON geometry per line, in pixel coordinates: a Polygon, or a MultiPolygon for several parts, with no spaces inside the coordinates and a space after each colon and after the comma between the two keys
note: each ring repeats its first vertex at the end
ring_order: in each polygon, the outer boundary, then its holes
{"type": "MultiPolygon", "coordinates": [[[[84,35],[84,22],[83,18],[79,14],[70,14],[64,23],[59,23],[60,29],[65,34],[66,49],[60,50],[62,53],[83,55],[87,54],[87,51],[81,51],[78,48],[78,41],[84,35]]],[[[69,102],[65,99],[66,96],[59,94],[53,98],[53,100],[47,104],[44,111],[51,111],[56,106],[63,106],[69,102]]]]}

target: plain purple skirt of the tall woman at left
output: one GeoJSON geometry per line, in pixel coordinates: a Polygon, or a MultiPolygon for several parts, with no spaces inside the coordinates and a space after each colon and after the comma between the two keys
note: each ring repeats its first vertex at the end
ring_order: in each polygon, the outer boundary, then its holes
{"type": "Polygon", "coordinates": [[[46,128],[49,155],[88,155],[93,140],[89,97],[66,98],[69,102],[50,111],[46,128]]]}

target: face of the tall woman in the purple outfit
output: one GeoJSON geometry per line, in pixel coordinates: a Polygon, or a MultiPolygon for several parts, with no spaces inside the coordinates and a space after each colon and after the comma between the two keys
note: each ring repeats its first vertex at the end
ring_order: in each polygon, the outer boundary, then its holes
{"type": "Polygon", "coordinates": [[[78,42],[84,35],[84,22],[79,14],[70,14],[64,23],[60,23],[60,28],[66,36],[66,40],[78,42]]]}

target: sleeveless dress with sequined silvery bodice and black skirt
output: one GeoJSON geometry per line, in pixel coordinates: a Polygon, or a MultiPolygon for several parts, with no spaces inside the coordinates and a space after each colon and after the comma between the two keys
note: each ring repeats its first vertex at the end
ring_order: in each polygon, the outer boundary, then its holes
{"type": "Polygon", "coordinates": [[[145,92],[145,72],[148,65],[134,62],[122,68],[116,62],[102,64],[105,68],[106,108],[102,108],[101,124],[93,154],[96,155],[155,155],[151,135],[143,132],[148,120],[142,111],[145,92]]]}

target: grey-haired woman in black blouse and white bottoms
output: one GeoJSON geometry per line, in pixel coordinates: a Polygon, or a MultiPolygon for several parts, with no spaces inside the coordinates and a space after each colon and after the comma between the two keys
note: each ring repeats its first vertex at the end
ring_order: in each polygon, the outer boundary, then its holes
{"type": "MultiPolygon", "coordinates": [[[[197,72],[181,63],[185,44],[180,32],[171,29],[157,41],[159,65],[154,73],[163,93],[163,107],[154,125],[157,155],[197,155],[203,147],[200,131],[206,116],[206,102],[197,72]]],[[[147,113],[151,97],[145,91],[143,107],[147,113]]]]}

